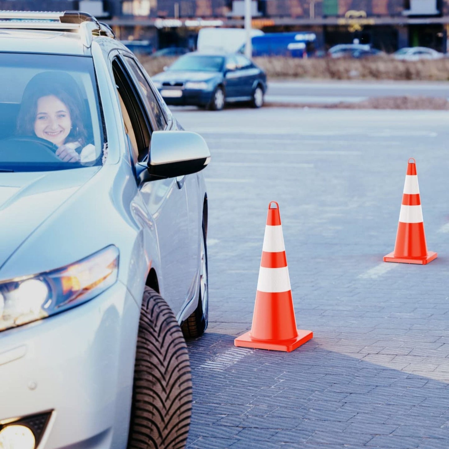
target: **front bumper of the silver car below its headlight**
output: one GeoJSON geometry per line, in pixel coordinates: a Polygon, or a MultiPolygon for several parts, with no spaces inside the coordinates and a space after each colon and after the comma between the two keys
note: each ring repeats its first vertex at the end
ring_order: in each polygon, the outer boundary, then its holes
{"type": "Polygon", "coordinates": [[[0,422],[52,411],[41,449],[126,447],[139,308],[116,282],[0,334],[0,422]]]}

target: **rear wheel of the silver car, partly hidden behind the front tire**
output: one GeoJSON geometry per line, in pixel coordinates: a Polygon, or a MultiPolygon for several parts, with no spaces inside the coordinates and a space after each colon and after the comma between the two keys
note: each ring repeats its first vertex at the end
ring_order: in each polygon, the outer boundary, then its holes
{"type": "Polygon", "coordinates": [[[204,220],[202,222],[202,245],[200,256],[200,276],[198,305],[194,312],[185,320],[182,325],[182,333],[186,339],[201,337],[207,329],[207,317],[209,313],[209,289],[207,272],[207,246],[204,220]]]}

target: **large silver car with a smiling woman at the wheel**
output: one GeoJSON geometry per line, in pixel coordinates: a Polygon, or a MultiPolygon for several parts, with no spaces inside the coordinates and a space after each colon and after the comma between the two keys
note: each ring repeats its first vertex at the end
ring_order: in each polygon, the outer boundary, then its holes
{"type": "Polygon", "coordinates": [[[0,27],[0,448],[182,448],[207,144],[88,14],[0,27]]]}

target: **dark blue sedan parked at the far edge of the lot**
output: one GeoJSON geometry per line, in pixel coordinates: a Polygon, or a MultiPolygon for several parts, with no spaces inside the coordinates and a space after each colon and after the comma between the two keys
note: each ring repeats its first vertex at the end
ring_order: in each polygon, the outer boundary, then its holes
{"type": "Polygon", "coordinates": [[[260,108],[267,90],[265,72],[242,54],[189,53],[152,78],[168,105],[221,110],[249,101],[260,108]]]}

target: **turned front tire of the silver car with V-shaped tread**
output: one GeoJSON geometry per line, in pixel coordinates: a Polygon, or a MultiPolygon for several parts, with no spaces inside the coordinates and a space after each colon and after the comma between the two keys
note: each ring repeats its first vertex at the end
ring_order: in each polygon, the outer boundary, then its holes
{"type": "Polygon", "coordinates": [[[132,392],[128,449],[182,449],[192,413],[189,353],[168,304],[145,287],[132,392]]]}

